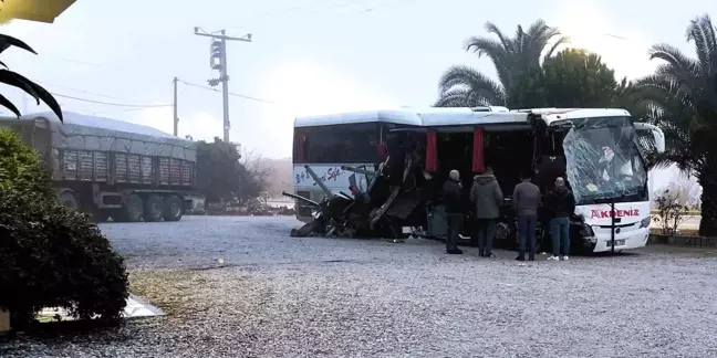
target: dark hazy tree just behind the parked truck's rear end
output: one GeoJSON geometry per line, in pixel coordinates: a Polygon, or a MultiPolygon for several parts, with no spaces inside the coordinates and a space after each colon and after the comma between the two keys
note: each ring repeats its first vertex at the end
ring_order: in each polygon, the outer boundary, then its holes
{"type": "Polygon", "coordinates": [[[261,191],[241,162],[241,155],[231,143],[215,138],[197,143],[197,190],[207,202],[246,200],[261,191]]]}

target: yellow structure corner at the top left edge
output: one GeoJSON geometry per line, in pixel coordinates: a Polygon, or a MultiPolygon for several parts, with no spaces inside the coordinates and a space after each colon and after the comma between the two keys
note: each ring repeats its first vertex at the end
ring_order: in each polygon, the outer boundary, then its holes
{"type": "Polygon", "coordinates": [[[75,0],[4,0],[0,2],[0,23],[13,19],[54,22],[75,0]]]}

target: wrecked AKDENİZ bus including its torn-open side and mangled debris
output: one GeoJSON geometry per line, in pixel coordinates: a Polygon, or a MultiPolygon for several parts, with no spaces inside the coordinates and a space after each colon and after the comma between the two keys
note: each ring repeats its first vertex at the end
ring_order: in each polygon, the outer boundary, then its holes
{"type": "MultiPolygon", "coordinates": [[[[416,234],[419,231],[424,236],[444,238],[446,219],[439,188],[451,169],[461,173],[466,190],[467,222],[470,223],[471,206],[467,197],[472,177],[490,166],[506,197],[496,245],[515,245],[516,220],[510,194],[522,172],[531,172],[533,182],[542,192],[551,189],[555,177],[567,179],[576,202],[571,218],[571,246],[575,250],[622,251],[642,248],[647,242],[647,168],[638,131],[652,135],[657,151],[664,151],[664,135],[655,126],[634,123],[624,109],[432,108],[426,112],[376,112],[372,115],[345,114],[339,117],[343,118],[342,125],[351,126],[366,123],[367,120],[356,120],[354,124],[350,119],[362,116],[377,118],[373,122],[372,130],[376,131],[373,141],[361,143],[366,158],[347,160],[342,159],[342,154],[334,152],[331,164],[344,168],[343,172],[353,176],[362,171],[356,171],[351,165],[361,161],[362,165],[373,165],[372,169],[377,170],[375,173],[365,173],[364,180],[372,180],[372,177],[388,178],[384,180],[383,188],[372,189],[370,186],[366,196],[371,197],[371,208],[363,210],[368,214],[363,214],[365,218],[361,219],[367,220],[372,229],[374,224],[391,229],[378,230],[381,235],[416,234]],[[382,127],[384,123],[392,126],[382,127]],[[383,166],[378,167],[382,156],[375,148],[376,145],[382,148],[382,144],[387,144],[383,148],[388,155],[383,160],[383,166]],[[371,148],[374,149],[373,154],[368,152],[371,148]]],[[[337,122],[339,117],[333,120],[337,122]]],[[[328,122],[329,118],[332,117],[324,117],[324,120],[328,122]]],[[[304,124],[299,119],[297,123],[304,124]]],[[[314,119],[314,123],[316,127],[323,125],[321,120],[314,119]]],[[[299,130],[305,127],[311,126],[309,123],[297,126],[295,134],[302,134],[305,138],[302,131],[305,129],[299,130]]],[[[294,146],[294,159],[297,150],[306,150],[306,145],[311,147],[311,139],[304,139],[299,146],[294,146]]],[[[306,161],[310,160],[303,162],[306,161]]],[[[299,165],[301,162],[295,162],[294,176],[302,169],[308,170],[308,167],[299,165]]],[[[313,168],[311,165],[309,167],[313,168]]],[[[314,177],[324,183],[333,180],[339,186],[331,191],[341,192],[349,187],[349,180],[339,182],[333,179],[335,175],[331,178],[329,173],[325,178],[315,175],[306,177],[311,186],[318,183],[312,179],[314,177]]],[[[315,190],[313,197],[315,199],[326,193],[326,190],[321,189],[324,186],[318,185],[319,190],[315,190]]],[[[306,187],[295,186],[295,193],[301,196],[300,191],[306,187]]],[[[350,197],[345,193],[342,196],[350,197]]],[[[341,200],[349,207],[353,204],[351,198],[341,200]]],[[[350,211],[342,210],[344,214],[350,211]]],[[[354,225],[351,220],[342,218],[344,217],[336,214],[331,224],[326,224],[336,227],[332,227],[330,232],[346,231],[354,225]]],[[[539,238],[548,242],[544,240],[547,232],[543,233],[542,225],[539,227],[539,238]]],[[[470,224],[466,225],[464,235],[469,236],[471,230],[470,224]]],[[[325,232],[323,228],[322,232],[325,232]]]]}

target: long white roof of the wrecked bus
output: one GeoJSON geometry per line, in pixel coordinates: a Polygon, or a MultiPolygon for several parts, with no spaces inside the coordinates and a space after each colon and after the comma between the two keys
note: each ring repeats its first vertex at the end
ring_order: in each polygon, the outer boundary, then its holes
{"type": "Polygon", "coordinates": [[[294,120],[294,127],[315,127],[376,122],[416,127],[527,124],[530,114],[540,115],[547,125],[563,119],[630,116],[627,110],[619,108],[534,108],[508,110],[505,107],[435,107],[425,110],[402,108],[300,117],[294,120]]]}

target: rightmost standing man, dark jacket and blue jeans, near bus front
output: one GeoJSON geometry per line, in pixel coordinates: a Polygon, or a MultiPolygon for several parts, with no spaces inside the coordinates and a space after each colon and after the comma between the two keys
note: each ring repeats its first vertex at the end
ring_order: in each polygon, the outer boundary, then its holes
{"type": "Polygon", "coordinates": [[[575,198],[565,187],[563,178],[555,179],[555,187],[545,194],[543,204],[550,214],[550,234],[553,252],[548,260],[568,260],[570,253],[570,215],[575,211],[575,198]]]}

